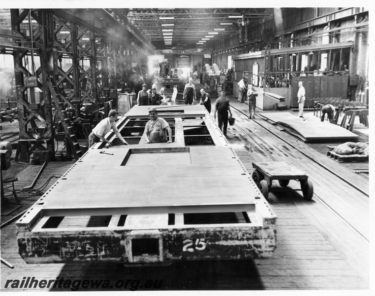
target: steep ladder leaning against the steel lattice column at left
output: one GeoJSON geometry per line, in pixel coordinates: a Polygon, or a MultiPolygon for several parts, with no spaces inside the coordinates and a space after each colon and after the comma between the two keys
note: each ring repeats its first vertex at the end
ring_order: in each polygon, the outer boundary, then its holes
{"type": "Polygon", "coordinates": [[[63,124],[63,128],[65,131],[66,146],[70,146],[74,158],[78,159],[82,156],[82,150],[78,143],[77,136],[74,133],[65,105],[68,105],[73,109],[75,109],[75,107],[72,103],[70,103],[61,95],[53,77],[50,77],[50,80],[48,80],[47,83],[51,91],[52,98],[55,102],[56,112],[58,115],[57,118],[60,117],[61,123],[63,124]]]}

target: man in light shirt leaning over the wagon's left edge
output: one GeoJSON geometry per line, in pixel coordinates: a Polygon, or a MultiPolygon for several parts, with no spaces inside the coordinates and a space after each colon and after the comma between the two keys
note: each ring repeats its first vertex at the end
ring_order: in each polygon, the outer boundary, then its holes
{"type": "Polygon", "coordinates": [[[125,145],[129,145],[121,136],[119,133],[119,130],[116,127],[116,120],[117,116],[119,115],[119,112],[116,110],[111,110],[108,112],[108,117],[102,119],[93,129],[91,134],[89,135],[89,148],[91,148],[94,143],[100,142],[102,140],[103,142],[107,142],[109,146],[112,146],[112,143],[104,138],[104,136],[111,130],[116,133],[117,138],[120,139],[121,142],[123,142],[125,145]]]}

